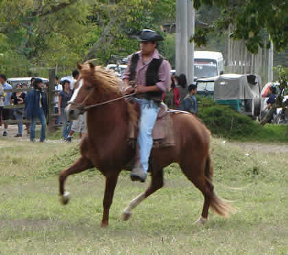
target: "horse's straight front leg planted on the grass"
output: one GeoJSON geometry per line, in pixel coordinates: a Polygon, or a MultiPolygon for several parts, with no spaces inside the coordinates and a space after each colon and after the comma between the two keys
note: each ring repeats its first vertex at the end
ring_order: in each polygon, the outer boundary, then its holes
{"type": "Polygon", "coordinates": [[[106,186],[105,186],[105,195],[103,199],[103,218],[101,221],[101,227],[107,226],[109,221],[109,210],[112,204],[114,190],[117,184],[118,176],[120,172],[115,171],[110,175],[106,176],[106,186]]]}

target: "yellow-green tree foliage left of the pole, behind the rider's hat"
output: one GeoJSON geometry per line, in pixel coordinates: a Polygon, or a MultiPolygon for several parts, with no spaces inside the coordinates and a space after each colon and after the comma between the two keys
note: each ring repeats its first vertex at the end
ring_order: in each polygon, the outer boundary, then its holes
{"type": "Polygon", "coordinates": [[[44,76],[56,67],[64,75],[89,58],[104,65],[112,54],[138,49],[130,38],[134,32],[160,31],[160,23],[173,16],[173,0],[1,0],[0,71],[44,76]],[[19,63],[18,71],[12,61],[19,63]]]}

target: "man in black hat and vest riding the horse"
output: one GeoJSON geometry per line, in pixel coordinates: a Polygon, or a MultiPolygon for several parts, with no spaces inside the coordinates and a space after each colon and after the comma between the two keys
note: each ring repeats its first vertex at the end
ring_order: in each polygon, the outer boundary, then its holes
{"type": "Polygon", "coordinates": [[[171,67],[156,49],[158,41],[164,40],[160,34],[153,30],[143,30],[138,40],[141,50],[132,54],[123,74],[123,82],[127,87],[126,93],[134,91],[138,94],[135,100],[141,109],[136,164],[130,177],[132,181],[144,182],[153,146],[152,129],[160,109],[162,94],[170,87],[171,67]],[[134,82],[135,87],[129,86],[130,82],[134,82]]]}

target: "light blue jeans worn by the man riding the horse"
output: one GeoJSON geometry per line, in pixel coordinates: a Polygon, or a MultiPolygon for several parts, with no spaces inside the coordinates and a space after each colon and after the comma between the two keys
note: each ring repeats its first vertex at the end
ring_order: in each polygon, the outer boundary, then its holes
{"type": "Polygon", "coordinates": [[[138,98],[135,98],[135,100],[139,103],[141,109],[138,135],[140,162],[143,170],[147,172],[149,167],[149,156],[153,146],[152,130],[157,119],[159,107],[153,100],[138,98]]]}

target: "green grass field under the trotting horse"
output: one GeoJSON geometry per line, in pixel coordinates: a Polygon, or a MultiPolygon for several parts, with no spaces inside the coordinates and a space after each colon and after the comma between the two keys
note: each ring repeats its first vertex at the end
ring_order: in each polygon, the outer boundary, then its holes
{"type": "Polygon", "coordinates": [[[200,227],[193,222],[204,199],[176,164],[165,170],[165,187],[121,221],[148,186],[123,172],[110,226],[100,228],[104,177],[97,170],[69,177],[71,203],[59,203],[58,172],[77,158],[75,146],[0,140],[0,254],[288,254],[287,155],[213,139],[215,192],[238,211],[230,219],[211,212],[200,227]]]}

